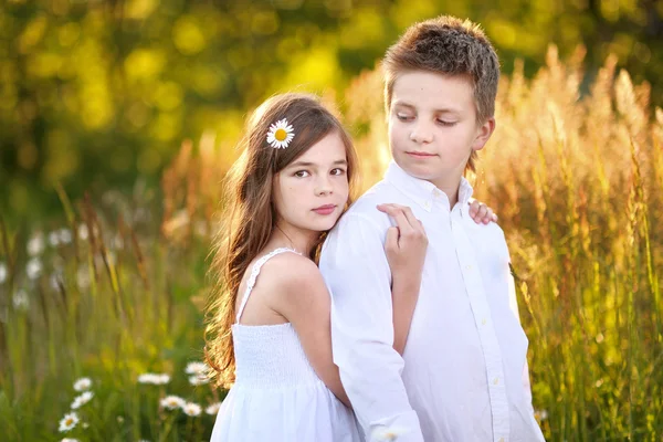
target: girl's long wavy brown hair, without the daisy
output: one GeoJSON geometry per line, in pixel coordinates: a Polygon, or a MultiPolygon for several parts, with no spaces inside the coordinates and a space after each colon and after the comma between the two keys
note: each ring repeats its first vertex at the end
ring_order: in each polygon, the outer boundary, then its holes
{"type": "Polygon", "coordinates": [[[274,177],[332,133],[338,134],[346,147],[347,177],[352,189],[357,176],[352,143],[318,97],[294,93],[276,95],[264,102],[248,120],[242,140],[244,150],[227,176],[224,220],[212,245],[213,288],[206,306],[206,359],[214,369],[218,386],[229,388],[234,382],[231,326],[235,322],[238,290],[249,264],[265,248],[276,224],[272,199],[274,177]],[[293,126],[295,137],[286,148],[275,149],[266,141],[267,131],[270,125],[283,118],[293,126]]]}

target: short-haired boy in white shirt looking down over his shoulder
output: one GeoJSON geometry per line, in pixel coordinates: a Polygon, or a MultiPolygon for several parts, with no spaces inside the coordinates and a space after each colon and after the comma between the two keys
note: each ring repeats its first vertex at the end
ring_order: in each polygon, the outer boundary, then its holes
{"type": "Polygon", "coordinates": [[[320,270],[333,297],[334,360],[370,438],[541,441],[502,230],[467,212],[474,167],[495,128],[497,55],[470,21],[412,25],[385,56],[393,162],[330,232],[320,270]],[[401,358],[392,348],[388,217],[421,220],[429,246],[401,358]]]}

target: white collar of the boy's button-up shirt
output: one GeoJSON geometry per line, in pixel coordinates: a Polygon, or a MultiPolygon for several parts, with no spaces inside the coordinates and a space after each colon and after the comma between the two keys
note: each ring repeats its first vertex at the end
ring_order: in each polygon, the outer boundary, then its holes
{"type": "MultiPolygon", "coordinates": [[[[446,193],[438,189],[430,181],[412,177],[393,160],[391,160],[385,172],[385,180],[391,182],[398,190],[429,212],[435,208],[446,208],[446,210],[450,210],[446,193]]],[[[473,189],[470,181],[465,177],[461,177],[459,186],[459,202],[462,203],[461,208],[467,206],[467,201],[472,198],[472,192],[473,189]]]]}

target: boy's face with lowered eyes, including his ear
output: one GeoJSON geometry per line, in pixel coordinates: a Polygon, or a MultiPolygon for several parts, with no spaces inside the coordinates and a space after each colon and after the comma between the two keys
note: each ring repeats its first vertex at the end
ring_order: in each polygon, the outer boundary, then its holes
{"type": "Polygon", "coordinates": [[[478,126],[471,80],[425,71],[401,74],[393,85],[389,145],[409,175],[455,190],[473,150],[495,128],[494,118],[478,126]]]}

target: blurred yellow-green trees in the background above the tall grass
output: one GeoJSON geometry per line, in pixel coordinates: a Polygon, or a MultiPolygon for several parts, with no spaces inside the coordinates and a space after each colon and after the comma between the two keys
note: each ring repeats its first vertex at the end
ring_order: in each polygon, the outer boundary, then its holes
{"type": "MultiPolygon", "coordinates": [[[[533,74],[549,43],[609,53],[663,104],[655,0],[9,0],[0,4],[0,210],[57,208],[55,182],[156,181],[183,138],[234,140],[243,116],[287,88],[343,91],[400,32],[440,13],[481,22],[504,71],[533,74]]],[[[343,101],[341,101],[343,102],[343,101]]]]}

